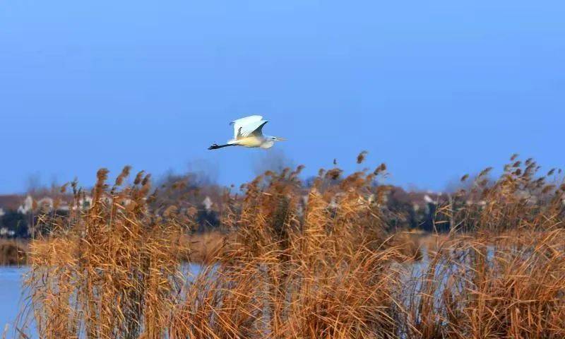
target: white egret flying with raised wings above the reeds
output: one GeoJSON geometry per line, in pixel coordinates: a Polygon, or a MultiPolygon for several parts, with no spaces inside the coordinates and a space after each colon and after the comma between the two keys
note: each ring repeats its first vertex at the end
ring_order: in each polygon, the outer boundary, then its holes
{"type": "Polygon", "coordinates": [[[217,150],[227,146],[244,146],[244,147],[260,147],[271,148],[275,141],[284,141],[285,138],[276,136],[263,136],[263,126],[268,123],[263,120],[261,115],[251,115],[242,119],[234,120],[230,125],[234,126],[234,138],[227,141],[225,145],[213,144],[208,150],[217,150]]]}

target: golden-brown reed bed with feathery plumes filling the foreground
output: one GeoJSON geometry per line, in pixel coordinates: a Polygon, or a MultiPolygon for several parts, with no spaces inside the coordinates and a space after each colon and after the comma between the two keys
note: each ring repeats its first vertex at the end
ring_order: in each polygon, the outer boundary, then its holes
{"type": "Polygon", "coordinates": [[[109,186],[100,170],[88,210],[37,227],[21,333],[33,320],[41,338],[565,337],[559,172],[516,157],[499,179],[486,169],[439,201],[450,232],[422,240],[386,221],[386,166],[321,170],[308,187],[301,169],[226,194],[225,233],[208,239],[186,236],[194,209],[148,207],[143,172],[109,186]],[[187,273],[198,246],[213,255],[187,273]]]}

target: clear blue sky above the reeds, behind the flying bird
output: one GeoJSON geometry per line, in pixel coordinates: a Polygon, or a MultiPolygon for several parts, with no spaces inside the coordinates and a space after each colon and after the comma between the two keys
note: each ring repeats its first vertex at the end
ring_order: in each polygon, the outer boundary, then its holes
{"type": "Polygon", "coordinates": [[[306,174],[443,189],[514,152],[563,167],[564,1],[0,1],[0,193],[123,165],[254,176],[262,114],[306,174]],[[202,165],[204,164],[204,165],[202,165]]]}

